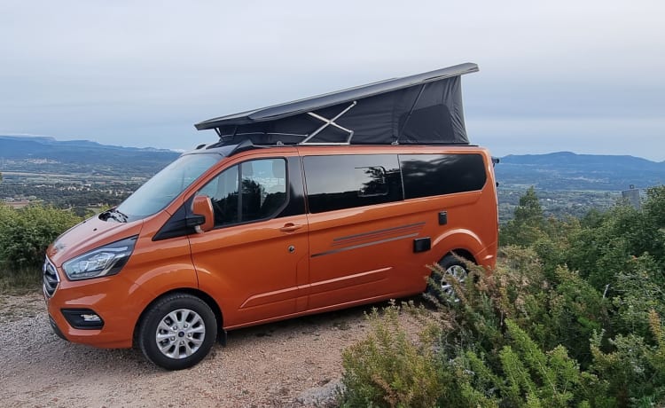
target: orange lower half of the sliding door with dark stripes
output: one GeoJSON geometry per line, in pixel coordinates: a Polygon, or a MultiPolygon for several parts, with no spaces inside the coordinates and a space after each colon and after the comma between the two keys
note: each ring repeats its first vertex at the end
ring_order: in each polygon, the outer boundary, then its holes
{"type": "Polygon", "coordinates": [[[395,277],[412,255],[412,239],[424,227],[395,214],[395,206],[399,204],[309,215],[310,309],[395,291],[395,277]]]}

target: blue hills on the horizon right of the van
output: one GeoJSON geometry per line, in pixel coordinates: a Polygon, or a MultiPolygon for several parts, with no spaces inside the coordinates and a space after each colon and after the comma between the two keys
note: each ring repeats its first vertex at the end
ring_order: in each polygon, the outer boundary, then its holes
{"type": "Polygon", "coordinates": [[[621,191],[665,184],[665,161],[633,156],[575,154],[508,155],[495,169],[505,187],[535,185],[542,190],[621,191]]]}

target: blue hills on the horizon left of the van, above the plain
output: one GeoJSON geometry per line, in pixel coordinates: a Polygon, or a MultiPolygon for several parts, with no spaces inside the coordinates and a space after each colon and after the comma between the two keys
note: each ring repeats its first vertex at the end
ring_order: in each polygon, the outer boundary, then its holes
{"type": "Polygon", "coordinates": [[[0,135],[0,171],[153,175],[180,153],[100,145],[89,140],[0,135]]]}

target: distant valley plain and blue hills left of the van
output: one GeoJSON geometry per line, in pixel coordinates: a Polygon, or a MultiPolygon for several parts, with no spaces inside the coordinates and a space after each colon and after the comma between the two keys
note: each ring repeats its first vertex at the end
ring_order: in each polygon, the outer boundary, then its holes
{"type": "Polygon", "coordinates": [[[0,136],[0,201],[42,202],[80,216],[117,205],[180,153],[87,140],[0,136]]]}

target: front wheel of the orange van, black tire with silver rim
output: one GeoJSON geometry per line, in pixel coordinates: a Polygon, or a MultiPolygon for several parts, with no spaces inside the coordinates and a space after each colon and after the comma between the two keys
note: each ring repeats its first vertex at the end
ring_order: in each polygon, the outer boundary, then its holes
{"type": "Polygon", "coordinates": [[[198,364],[217,336],[215,313],[192,294],[168,294],[146,310],[138,345],[154,365],[182,370],[198,364]]]}

